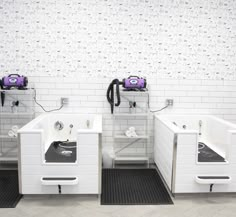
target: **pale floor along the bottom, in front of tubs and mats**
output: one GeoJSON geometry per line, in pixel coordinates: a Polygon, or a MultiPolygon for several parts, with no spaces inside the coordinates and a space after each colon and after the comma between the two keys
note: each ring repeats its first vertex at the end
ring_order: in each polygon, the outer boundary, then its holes
{"type": "Polygon", "coordinates": [[[236,194],[178,196],[174,205],[101,206],[96,196],[27,196],[1,217],[235,217],[236,194]]]}

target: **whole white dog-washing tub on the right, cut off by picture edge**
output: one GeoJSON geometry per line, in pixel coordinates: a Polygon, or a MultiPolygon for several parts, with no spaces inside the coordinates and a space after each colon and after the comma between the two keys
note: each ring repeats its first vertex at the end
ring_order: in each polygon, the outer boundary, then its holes
{"type": "Polygon", "coordinates": [[[211,115],[156,115],[154,161],[173,194],[236,192],[236,125],[211,115]]]}

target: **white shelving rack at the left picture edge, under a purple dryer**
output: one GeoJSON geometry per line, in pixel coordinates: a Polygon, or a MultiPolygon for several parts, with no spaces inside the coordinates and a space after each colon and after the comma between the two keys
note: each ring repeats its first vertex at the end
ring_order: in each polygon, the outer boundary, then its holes
{"type": "Polygon", "coordinates": [[[0,102],[0,162],[17,162],[18,138],[8,132],[13,126],[20,129],[34,118],[34,89],[0,89],[5,94],[4,104],[0,102]]]}

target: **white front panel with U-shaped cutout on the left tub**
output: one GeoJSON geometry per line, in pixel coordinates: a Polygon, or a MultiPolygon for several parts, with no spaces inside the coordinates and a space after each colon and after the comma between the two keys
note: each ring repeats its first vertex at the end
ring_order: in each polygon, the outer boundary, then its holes
{"type": "Polygon", "coordinates": [[[22,134],[21,193],[58,194],[58,186],[45,186],[42,177],[78,177],[77,185],[61,186],[62,194],[99,194],[99,134],[78,134],[78,164],[44,164],[42,136],[22,134]]]}

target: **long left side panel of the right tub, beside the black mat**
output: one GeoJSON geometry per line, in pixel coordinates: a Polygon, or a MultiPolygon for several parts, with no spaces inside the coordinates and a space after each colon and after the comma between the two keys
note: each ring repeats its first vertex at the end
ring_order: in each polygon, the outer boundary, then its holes
{"type": "Polygon", "coordinates": [[[171,189],[174,132],[155,118],[154,161],[171,189]]]}

